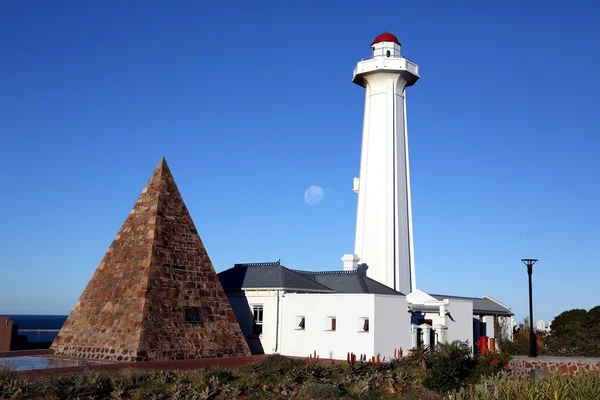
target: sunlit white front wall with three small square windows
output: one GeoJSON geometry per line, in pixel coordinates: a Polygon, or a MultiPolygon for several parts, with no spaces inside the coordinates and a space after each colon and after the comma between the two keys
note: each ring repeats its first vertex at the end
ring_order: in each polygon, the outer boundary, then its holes
{"type": "Polygon", "coordinates": [[[281,354],[307,357],[316,350],[321,358],[345,360],[348,352],[373,356],[374,296],[285,294],[281,309],[281,354]],[[297,316],[305,317],[304,330],[296,329],[297,316]],[[328,316],[336,317],[335,331],[326,331],[328,316]],[[360,317],[369,318],[369,332],[359,331],[360,317]]]}

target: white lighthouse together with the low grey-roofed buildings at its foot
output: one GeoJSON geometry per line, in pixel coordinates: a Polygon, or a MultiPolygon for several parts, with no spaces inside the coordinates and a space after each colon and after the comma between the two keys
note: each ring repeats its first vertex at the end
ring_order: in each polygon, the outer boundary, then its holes
{"type": "Polygon", "coordinates": [[[355,251],[342,257],[343,270],[297,271],[274,262],[236,264],[219,274],[253,353],[389,358],[440,341],[512,339],[513,314],[497,300],[416,289],[405,89],[419,69],[390,33],[371,48],[354,69],[366,98],[354,179],[355,251]]]}

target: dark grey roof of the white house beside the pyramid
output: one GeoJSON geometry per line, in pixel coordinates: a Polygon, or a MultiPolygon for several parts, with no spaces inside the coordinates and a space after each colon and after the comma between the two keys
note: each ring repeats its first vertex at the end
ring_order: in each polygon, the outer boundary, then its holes
{"type": "Polygon", "coordinates": [[[358,271],[299,271],[269,263],[235,264],[218,274],[225,291],[278,288],[313,293],[402,295],[358,271]]]}

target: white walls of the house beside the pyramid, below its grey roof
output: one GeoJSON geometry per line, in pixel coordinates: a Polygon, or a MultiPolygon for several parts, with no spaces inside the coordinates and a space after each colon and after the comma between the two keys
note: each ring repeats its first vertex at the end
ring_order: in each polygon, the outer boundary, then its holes
{"type": "Polygon", "coordinates": [[[374,294],[309,294],[276,290],[229,294],[229,301],[253,353],[279,353],[307,357],[317,351],[321,358],[345,360],[357,356],[390,358],[394,350],[410,349],[410,314],[404,296],[374,294]],[[279,332],[277,296],[279,298],[279,332]],[[263,334],[252,336],[252,306],[263,306],[263,334]],[[305,328],[297,328],[304,316],[305,328]],[[329,330],[328,317],[335,317],[336,330],[329,330]],[[362,331],[361,318],[369,319],[369,332],[362,331]]]}

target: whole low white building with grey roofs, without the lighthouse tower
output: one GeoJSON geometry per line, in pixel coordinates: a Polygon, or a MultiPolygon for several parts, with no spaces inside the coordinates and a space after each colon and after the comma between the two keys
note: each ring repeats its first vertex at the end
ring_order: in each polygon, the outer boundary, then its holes
{"type": "MultiPolygon", "coordinates": [[[[346,359],[348,352],[387,358],[395,350],[438,341],[494,337],[494,320],[512,322],[494,299],[408,296],[366,276],[365,269],[298,271],[280,262],[236,264],[221,284],[254,354],[346,359]]],[[[507,327],[509,325],[506,325],[507,327]]],[[[512,325],[506,337],[512,333],[512,325]]]]}

